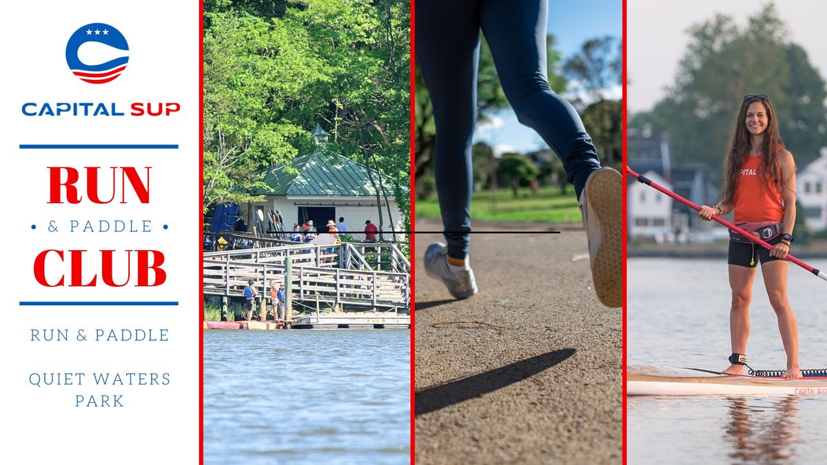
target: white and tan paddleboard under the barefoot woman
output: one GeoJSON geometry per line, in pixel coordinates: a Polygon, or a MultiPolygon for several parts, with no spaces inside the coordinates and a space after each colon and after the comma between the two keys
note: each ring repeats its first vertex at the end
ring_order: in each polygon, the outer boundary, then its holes
{"type": "MultiPolygon", "coordinates": [[[[688,372],[687,373],[691,373],[688,372]]],[[[827,376],[661,376],[629,373],[627,395],[827,395],[827,376]]]]}

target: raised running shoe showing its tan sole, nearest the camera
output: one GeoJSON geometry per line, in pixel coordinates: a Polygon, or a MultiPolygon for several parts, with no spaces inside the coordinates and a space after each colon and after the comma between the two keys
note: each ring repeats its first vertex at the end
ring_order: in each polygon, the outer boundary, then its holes
{"type": "Polygon", "coordinates": [[[591,277],[607,307],[623,305],[623,179],[616,170],[600,168],[586,180],[580,195],[583,225],[589,239],[591,277]]]}

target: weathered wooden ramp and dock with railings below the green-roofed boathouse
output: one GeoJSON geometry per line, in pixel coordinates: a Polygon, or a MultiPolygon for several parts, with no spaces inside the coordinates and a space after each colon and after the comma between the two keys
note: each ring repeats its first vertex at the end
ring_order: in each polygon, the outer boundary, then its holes
{"type": "Polygon", "coordinates": [[[289,280],[294,306],[316,314],[323,309],[335,309],[337,314],[341,310],[404,313],[410,304],[410,262],[389,243],[318,246],[292,242],[204,253],[204,295],[221,296],[226,304],[229,298],[243,296],[249,280],[265,298],[264,304],[270,304],[270,286],[289,280]]]}

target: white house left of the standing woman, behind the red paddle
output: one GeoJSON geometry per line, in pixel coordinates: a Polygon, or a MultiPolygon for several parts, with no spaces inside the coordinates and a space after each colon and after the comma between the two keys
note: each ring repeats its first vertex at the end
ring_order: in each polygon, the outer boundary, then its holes
{"type": "MultiPolygon", "coordinates": [[[[666,189],[672,189],[672,185],[653,170],[643,175],[666,189]]],[[[653,238],[672,232],[672,197],[633,180],[627,186],[626,202],[629,237],[653,238]]]]}

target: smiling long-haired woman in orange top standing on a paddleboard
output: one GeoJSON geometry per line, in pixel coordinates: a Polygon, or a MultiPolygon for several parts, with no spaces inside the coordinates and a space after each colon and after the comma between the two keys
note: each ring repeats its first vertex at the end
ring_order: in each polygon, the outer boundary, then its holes
{"type": "Polygon", "coordinates": [[[730,232],[729,334],[732,339],[730,366],[724,372],[743,374],[749,337],[749,303],[757,262],[761,262],[764,287],[778,319],[784,351],[784,378],[800,378],[798,325],[786,298],[786,273],[792,228],[796,223],[796,162],[784,148],[778,132],[775,108],[766,95],[743,98],[735,132],[724,161],[723,199],[714,207],[703,205],[698,216],[735,212],[734,223],[774,246],[772,251],[746,237],[730,232]]]}

